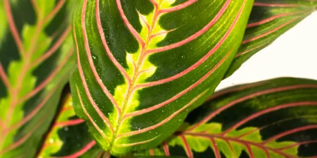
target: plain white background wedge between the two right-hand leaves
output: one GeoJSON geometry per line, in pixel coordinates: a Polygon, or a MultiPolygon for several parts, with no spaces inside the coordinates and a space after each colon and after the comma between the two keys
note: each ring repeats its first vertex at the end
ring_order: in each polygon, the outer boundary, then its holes
{"type": "Polygon", "coordinates": [[[216,90],[286,76],[317,80],[317,12],[257,52],[216,90]]]}

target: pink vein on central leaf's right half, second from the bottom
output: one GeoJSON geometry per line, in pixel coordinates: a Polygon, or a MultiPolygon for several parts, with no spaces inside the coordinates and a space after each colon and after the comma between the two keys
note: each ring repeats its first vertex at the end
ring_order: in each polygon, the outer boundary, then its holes
{"type": "Polygon", "coordinates": [[[147,132],[147,131],[150,131],[150,130],[153,130],[153,129],[156,129],[158,128],[159,126],[161,125],[164,125],[166,122],[170,121],[171,119],[173,119],[176,115],[178,115],[180,112],[183,112],[186,108],[188,108],[189,106],[191,106],[195,101],[197,101],[201,96],[203,96],[204,94],[206,94],[206,92],[208,91],[205,90],[203,93],[197,95],[193,100],[191,100],[188,104],[186,104],[185,106],[183,106],[182,108],[180,108],[178,111],[172,113],[169,117],[167,117],[166,119],[164,119],[163,121],[159,122],[158,124],[156,125],[152,125],[150,127],[147,127],[147,128],[144,128],[142,130],[137,130],[137,131],[132,131],[132,132],[127,132],[127,133],[124,133],[124,134],[120,134],[117,136],[117,138],[120,138],[120,137],[126,137],[126,136],[132,136],[132,135],[137,135],[137,134],[140,134],[140,133],[144,133],[144,132],[147,132]]]}

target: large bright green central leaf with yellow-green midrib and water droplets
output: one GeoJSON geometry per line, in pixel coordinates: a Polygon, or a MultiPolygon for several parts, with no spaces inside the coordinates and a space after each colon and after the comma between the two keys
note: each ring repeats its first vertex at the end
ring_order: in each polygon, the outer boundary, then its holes
{"type": "Polygon", "coordinates": [[[253,0],[82,0],[74,13],[77,115],[104,150],[155,147],[221,81],[253,0]]]}

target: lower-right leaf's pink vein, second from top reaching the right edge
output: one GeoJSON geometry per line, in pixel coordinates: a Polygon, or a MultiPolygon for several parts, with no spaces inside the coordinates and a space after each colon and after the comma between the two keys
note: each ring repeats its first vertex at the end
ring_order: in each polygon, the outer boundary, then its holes
{"type": "Polygon", "coordinates": [[[274,107],[270,107],[270,108],[264,109],[262,111],[256,112],[256,113],[250,115],[249,117],[237,122],[235,125],[232,125],[226,131],[224,131],[222,133],[222,135],[225,135],[228,132],[230,132],[230,131],[240,127],[241,125],[247,123],[248,121],[250,121],[250,120],[252,120],[254,118],[257,118],[257,117],[259,117],[261,115],[264,115],[266,113],[273,112],[273,111],[280,110],[280,109],[284,109],[284,108],[295,107],[295,106],[317,106],[317,102],[314,102],[314,101],[295,102],[295,103],[282,104],[282,105],[278,105],[278,106],[274,106],[274,107]]]}

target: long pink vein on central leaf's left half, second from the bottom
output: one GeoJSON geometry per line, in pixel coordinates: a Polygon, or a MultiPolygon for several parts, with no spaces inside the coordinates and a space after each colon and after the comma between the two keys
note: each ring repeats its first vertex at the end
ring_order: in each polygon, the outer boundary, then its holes
{"type": "MultiPolygon", "coordinates": [[[[87,2],[87,0],[85,2],[87,2]]],[[[84,3],[83,8],[86,8],[85,4],[86,3],[84,3]]],[[[83,10],[83,11],[85,12],[85,10],[83,10]]],[[[83,15],[85,15],[85,14],[83,14],[83,15]]],[[[84,76],[84,72],[83,72],[83,70],[81,68],[81,62],[80,62],[80,57],[79,57],[79,49],[78,49],[78,43],[77,43],[77,39],[76,39],[75,29],[73,29],[73,30],[74,30],[75,46],[76,46],[76,50],[77,50],[77,66],[78,66],[78,70],[79,70],[79,74],[80,74],[80,77],[81,77],[81,81],[83,83],[83,86],[84,86],[84,89],[86,91],[87,97],[88,97],[90,103],[92,104],[92,106],[94,107],[94,109],[96,110],[96,112],[98,113],[98,115],[104,120],[104,122],[109,127],[109,129],[111,131],[113,131],[113,128],[111,127],[111,124],[110,124],[108,118],[104,115],[104,113],[96,105],[96,103],[94,102],[94,99],[92,98],[92,96],[91,96],[91,94],[89,92],[89,89],[88,89],[88,86],[87,86],[87,82],[86,82],[86,79],[85,79],[85,76],[84,76]]]]}

